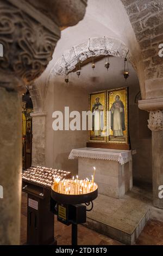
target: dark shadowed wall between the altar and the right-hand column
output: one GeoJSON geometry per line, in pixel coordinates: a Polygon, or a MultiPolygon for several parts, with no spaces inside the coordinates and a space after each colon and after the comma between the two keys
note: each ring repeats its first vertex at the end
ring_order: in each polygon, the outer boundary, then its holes
{"type": "Polygon", "coordinates": [[[152,133],[148,129],[148,112],[137,104],[129,106],[129,130],[133,155],[133,184],[152,183],[152,133]]]}

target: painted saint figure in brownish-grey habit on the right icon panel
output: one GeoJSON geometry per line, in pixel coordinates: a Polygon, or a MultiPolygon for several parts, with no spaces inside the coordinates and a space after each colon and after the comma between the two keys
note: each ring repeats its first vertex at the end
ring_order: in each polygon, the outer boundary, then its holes
{"type": "Polygon", "coordinates": [[[122,137],[123,131],[126,130],[124,119],[124,105],[120,100],[120,96],[115,96],[115,101],[110,108],[111,112],[111,130],[115,137],[122,137]]]}

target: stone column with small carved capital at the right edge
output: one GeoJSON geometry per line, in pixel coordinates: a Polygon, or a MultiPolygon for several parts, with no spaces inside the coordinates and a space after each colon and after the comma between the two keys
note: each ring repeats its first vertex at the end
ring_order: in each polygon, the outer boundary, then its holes
{"type": "Polygon", "coordinates": [[[163,209],[163,199],[159,198],[163,185],[163,111],[149,113],[148,128],[152,131],[153,205],[163,209]]]}

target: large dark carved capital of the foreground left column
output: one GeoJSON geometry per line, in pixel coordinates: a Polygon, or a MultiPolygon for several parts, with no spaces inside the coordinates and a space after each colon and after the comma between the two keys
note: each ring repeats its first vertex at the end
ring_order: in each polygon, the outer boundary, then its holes
{"type": "Polygon", "coordinates": [[[4,56],[0,58],[0,72],[14,74],[24,83],[41,75],[60,38],[59,29],[55,34],[33,16],[0,0],[0,42],[4,56]]]}

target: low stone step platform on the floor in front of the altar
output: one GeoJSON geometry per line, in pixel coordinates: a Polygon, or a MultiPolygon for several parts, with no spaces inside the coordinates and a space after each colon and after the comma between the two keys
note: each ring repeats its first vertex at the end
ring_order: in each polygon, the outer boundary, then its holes
{"type": "Polygon", "coordinates": [[[87,212],[85,225],[126,245],[134,245],[148,220],[149,205],[135,198],[134,192],[123,199],[98,194],[92,211],[87,212]]]}

